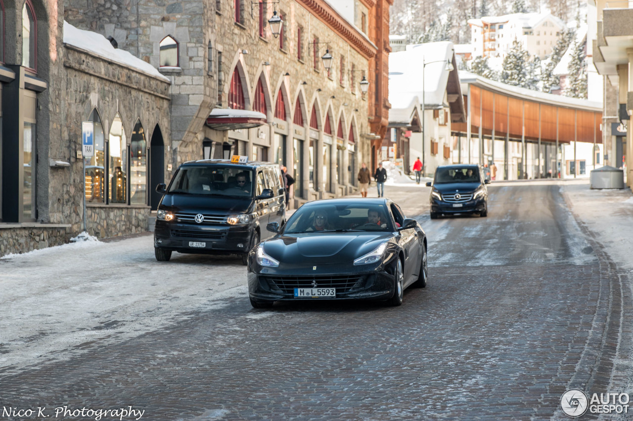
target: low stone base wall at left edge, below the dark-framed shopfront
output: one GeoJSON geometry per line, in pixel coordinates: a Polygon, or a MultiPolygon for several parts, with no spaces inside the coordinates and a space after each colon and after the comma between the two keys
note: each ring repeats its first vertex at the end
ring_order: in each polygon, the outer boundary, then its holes
{"type": "Polygon", "coordinates": [[[31,225],[0,228],[0,257],[66,244],[72,236],[70,227],[31,225]]]}

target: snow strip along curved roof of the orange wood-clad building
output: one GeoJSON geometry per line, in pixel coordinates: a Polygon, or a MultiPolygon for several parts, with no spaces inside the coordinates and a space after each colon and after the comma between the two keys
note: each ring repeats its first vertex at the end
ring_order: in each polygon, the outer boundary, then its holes
{"type": "Polygon", "coordinates": [[[586,109],[587,111],[602,111],[602,103],[587,101],[586,99],[565,97],[564,95],[547,94],[540,90],[520,88],[518,86],[506,85],[506,83],[496,82],[482,76],[470,73],[470,71],[460,70],[460,82],[462,92],[468,92],[468,83],[477,83],[483,87],[491,88],[502,94],[527,99],[530,101],[546,102],[553,106],[575,107],[586,109]]]}

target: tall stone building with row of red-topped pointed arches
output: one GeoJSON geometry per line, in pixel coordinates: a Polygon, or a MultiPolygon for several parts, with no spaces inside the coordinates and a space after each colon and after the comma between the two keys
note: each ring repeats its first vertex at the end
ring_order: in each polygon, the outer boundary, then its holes
{"type": "Polygon", "coordinates": [[[297,180],[292,195],[299,204],[353,191],[360,162],[375,161],[371,140],[387,126],[389,45],[372,37],[387,39],[388,1],[113,4],[85,10],[85,2],[68,0],[66,20],[111,37],[171,79],[174,168],[232,154],[279,162],[297,180]],[[268,27],[273,12],[283,19],[280,37],[268,27]],[[161,58],[170,39],[177,63],[161,58]],[[326,50],[333,56],[329,72],[321,60],[326,50]],[[363,77],[370,81],[364,95],[363,77]],[[232,88],[241,89],[241,104],[232,101],[232,88]],[[210,118],[213,110],[235,107],[260,111],[265,120],[220,128],[210,118]]]}

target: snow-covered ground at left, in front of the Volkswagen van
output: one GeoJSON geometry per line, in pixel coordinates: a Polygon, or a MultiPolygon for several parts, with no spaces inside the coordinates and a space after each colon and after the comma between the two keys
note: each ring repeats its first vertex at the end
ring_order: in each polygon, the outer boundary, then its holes
{"type": "Polygon", "coordinates": [[[239,259],[174,253],[156,262],[150,235],[4,256],[0,288],[0,368],[16,369],[70,358],[88,341],[134,338],[227,296],[248,300],[239,259]]]}

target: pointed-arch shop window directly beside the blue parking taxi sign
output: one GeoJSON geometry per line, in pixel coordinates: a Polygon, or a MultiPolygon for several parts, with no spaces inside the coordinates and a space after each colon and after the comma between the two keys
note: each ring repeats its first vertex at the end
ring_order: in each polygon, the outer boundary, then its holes
{"type": "Polygon", "coordinates": [[[105,203],[106,185],[106,152],[103,136],[103,125],[96,109],[92,110],[89,121],[92,121],[94,136],[94,155],[85,157],[85,201],[87,203],[105,203]]]}

